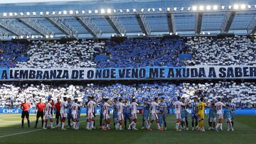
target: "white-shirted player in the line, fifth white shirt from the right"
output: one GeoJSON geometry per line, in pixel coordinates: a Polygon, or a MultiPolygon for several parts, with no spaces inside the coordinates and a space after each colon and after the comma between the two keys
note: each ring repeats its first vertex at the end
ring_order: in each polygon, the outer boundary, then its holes
{"type": "Polygon", "coordinates": [[[117,130],[122,130],[122,123],[124,122],[124,115],[123,115],[123,109],[125,104],[122,101],[122,98],[119,98],[119,103],[117,103],[117,116],[118,116],[118,123],[115,126],[117,130]]]}

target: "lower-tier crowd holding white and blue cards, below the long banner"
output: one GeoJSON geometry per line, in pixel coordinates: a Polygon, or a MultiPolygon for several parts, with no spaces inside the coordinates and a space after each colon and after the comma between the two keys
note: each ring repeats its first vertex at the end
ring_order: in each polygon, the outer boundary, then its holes
{"type": "Polygon", "coordinates": [[[31,104],[36,104],[41,98],[44,101],[52,98],[70,97],[87,101],[87,96],[94,96],[97,102],[103,97],[122,97],[132,99],[135,97],[138,102],[143,99],[154,99],[164,97],[167,104],[171,105],[176,101],[177,96],[185,97],[192,101],[193,97],[205,97],[207,101],[217,99],[224,100],[233,98],[233,103],[238,107],[256,106],[255,82],[216,82],[216,83],[155,83],[155,84],[87,84],[87,85],[48,85],[48,84],[1,84],[0,85],[0,106],[20,106],[24,99],[31,104]]]}

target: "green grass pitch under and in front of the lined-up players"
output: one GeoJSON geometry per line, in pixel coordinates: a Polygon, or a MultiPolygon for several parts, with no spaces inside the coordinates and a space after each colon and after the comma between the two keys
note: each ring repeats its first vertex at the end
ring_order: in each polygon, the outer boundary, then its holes
{"type": "MultiPolygon", "coordinates": [[[[99,127],[99,116],[96,118],[96,126],[99,127]]],[[[156,123],[153,124],[153,131],[102,131],[85,130],[85,116],[80,118],[80,130],[67,131],[42,130],[33,128],[36,116],[31,114],[31,128],[21,128],[20,114],[0,114],[0,143],[175,143],[175,144],[203,144],[203,143],[225,143],[225,144],[250,144],[256,143],[256,116],[235,116],[235,131],[181,131],[174,130],[175,116],[168,115],[168,130],[157,131],[156,123]]],[[[54,120],[55,121],[55,120],[54,120]]],[[[112,122],[111,122],[112,123],[112,122]]],[[[38,126],[41,122],[39,121],[38,126]]],[[[111,126],[113,128],[113,126],[111,126]]],[[[142,115],[138,114],[137,128],[142,127],[142,115]]],[[[191,129],[191,121],[189,121],[191,129]]],[[[205,128],[208,129],[208,123],[205,121],[205,128]]],[[[227,126],[224,123],[223,129],[227,126]]]]}

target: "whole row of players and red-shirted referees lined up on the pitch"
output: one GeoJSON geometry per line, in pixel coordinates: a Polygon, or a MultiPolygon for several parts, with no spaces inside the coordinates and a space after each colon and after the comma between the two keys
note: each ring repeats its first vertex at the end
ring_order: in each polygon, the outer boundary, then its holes
{"type": "MultiPolygon", "coordinates": [[[[137,106],[143,106],[142,114],[142,129],[147,128],[151,131],[151,125],[156,121],[156,126],[159,131],[167,129],[166,126],[166,113],[168,113],[167,104],[164,102],[164,98],[154,98],[150,101],[149,99],[144,99],[144,104],[138,104],[136,99],[132,99],[132,103],[128,99],[114,98],[113,101],[110,101],[108,98],[102,99],[100,104],[96,104],[93,100],[93,97],[88,97],[86,103],[80,103],[78,99],[75,99],[74,102],[70,98],[63,98],[63,101],[57,99],[56,103],[53,103],[51,99],[48,99],[46,104],[40,99],[40,102],[36,104],[37,114],[36,114],[36,126],[38,125],[38,119],[41,117],[43,129],[55,128],[53,127],[53,109],[55,109],[55,118],[56,125],[60,127],[61,130],[65,130],[65,120],[68,117],[68,127],[78,130],[80,126],[80,108],[85,106],[87,108],[87,130],[92,130],[95,128],[95,106],[100,106],[100,126],[102,130],[110,130],[110,108],[113,108],[113,119],[114,127],[117,130],[123,130],[122,125],[124,123],[125,128],[128,130],[137,130],[137,106]],[[68,109],[68,113],[65,113],[65,109],[68,109]],[[149,121],[149,114],[151,113],[151,121],[149,121]],[[43,116],[45,116],[45,121],[43,121],[43,116]],[[60,121],[59,121],[60,119],[60,121]],[[73,123],[71,123],[71,120],[73,123]],[[102,121],[103,120],[103,121],[102,121]],[[129,125],[127,127],[127,120],[129,120],[129,125]],[[50,121],[50,124],[48,123],[50,121]],[[162,123],[164,122],[164,123],[162,123]],[[48,125],[47,125],[48,123],[48,125]],[[72,126],[73,125],[73,126],[72,126]]],[[[228,123],[228,131],[233,129],[233,111],[235,106],[231,103],[231,99],[228,100],[226,104],[221,102],[219,98],[218,101],[211,101],[212,103],[206,103],[203,98],[200,99],[200,102],[195,97],[191,103],[185,98],[178,97],[177,101],[174,102],[172,107],[175,109],[176,113],[176,131],[188,130],[188,111],[187,108],[191,107],[191,119],[192,119],[192,130],[205,131],[203,127],[205,108],[210,107],[209,112],[209,130],[214,131],[223,131],[222,121],[223,121],[223,107],[225,107],[224,116],[228,123]],[[218,123],[216,123],[216,118],[218,118],[218,123]],[[199,122],[198,122],[199,121],[199,122]]],[[[23,109],[21,118],[22,118],[22,127],[23,119],[26,117],[28,119],[29,126],[29,115],[28,109],[30,109],[29,104],[26,102],[21,104],[23,109]]]]}

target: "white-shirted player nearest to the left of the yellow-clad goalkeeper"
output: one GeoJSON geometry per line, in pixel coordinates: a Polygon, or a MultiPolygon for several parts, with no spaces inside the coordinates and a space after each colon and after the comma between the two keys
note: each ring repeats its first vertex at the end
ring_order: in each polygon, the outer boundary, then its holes
{"type": "Polygon", "coordinates": [[[184,101],[181,101],[181,97],[178,96],[178,101],[174,102],[174,107],[175,107],[175,113],[176,113],[176,131],[181,131],[179,129],[180,125],[181,125],[181,106],[185,106],[185,104],[183,103],[184,101]]]}

